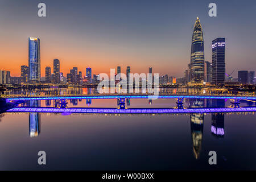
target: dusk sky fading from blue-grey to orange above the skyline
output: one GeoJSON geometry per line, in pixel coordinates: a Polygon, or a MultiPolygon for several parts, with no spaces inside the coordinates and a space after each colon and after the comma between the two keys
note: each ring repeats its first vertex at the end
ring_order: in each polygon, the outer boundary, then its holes
{"type": "MultiPolygon", "coordinates": [[[[190,63],[193,25],[199,16],[205,61],[212,59],[211,42],[226,38],[226,72],[256,70],[256,1],[150,0],[1,0],[0,69],[20,76],[28,65],[28,37],[41,39],[41,76],[60,60],[64,76],[72,67],[85,73],[109,73],[121,65],[132,73],[153,67],[160,75],[183,77],[190,63]],[[47,6],[39,18],[38,3],[47,6]],[[208,5],[217,4],[217,17],[208,5]]],[[[53,71],[53,68],[52,68],[53,71]]]]}

